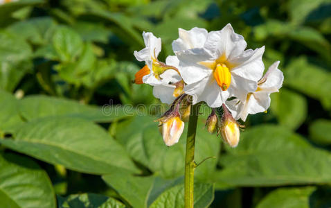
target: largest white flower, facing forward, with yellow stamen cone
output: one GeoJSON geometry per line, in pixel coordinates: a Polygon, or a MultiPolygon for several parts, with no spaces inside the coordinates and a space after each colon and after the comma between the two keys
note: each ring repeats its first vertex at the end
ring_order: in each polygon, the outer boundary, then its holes
{"type": "Polygon", "coordinates": [[[220,107],[227,98],[243,101],[257,88],[264,64],[264,46],[247,50],[242,35],[227,24],[221,31],[207,33],[201,28],[179,29],[179,39],[172,44],[186,94],[193,104],[205,101],[210,107],[220,107]]]}

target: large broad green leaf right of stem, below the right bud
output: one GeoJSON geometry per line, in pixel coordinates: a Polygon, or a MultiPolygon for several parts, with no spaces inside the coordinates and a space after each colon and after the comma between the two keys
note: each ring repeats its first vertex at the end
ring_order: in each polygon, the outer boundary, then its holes
{"type": "Polygon", "coordinates": [[[276,125],[242,132],[238,148],[229,148],[220,162],[217,187],[331,183],[330,153],[276,125]]]}

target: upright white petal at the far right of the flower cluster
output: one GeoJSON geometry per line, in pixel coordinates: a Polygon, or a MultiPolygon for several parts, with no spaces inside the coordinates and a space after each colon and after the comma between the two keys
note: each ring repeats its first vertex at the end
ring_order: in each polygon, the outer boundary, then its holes
{"type": "Polygon", "coordinates": [[[266,92],[278,92],[278,89],[282,87],[284,75],[283,72],[278,69],[278,62],[272,64],[265,76],[261,80],[265,80],[265,83],[259,85],[259,87],[266,92]]]}

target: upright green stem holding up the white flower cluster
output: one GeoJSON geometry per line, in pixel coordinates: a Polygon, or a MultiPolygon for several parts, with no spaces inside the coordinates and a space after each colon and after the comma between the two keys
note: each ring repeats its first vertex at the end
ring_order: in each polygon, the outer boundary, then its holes
{"type": "Polygon", "coordinates": [[[188,137],[186,139],[185,158],[185,208],[193,208],[194,171],[195,171],[195,135],[197,132],[197,119],[199,116],[199,104],[192,105],[190,119],[188,121],[188,137]]]}

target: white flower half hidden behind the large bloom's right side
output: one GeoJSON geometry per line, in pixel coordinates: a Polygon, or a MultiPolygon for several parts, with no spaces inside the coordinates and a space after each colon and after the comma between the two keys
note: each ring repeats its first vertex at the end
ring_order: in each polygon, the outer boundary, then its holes
{"type": "Polygon", "coordinates": [[[270,106],[270,94],[278,92],[283,85],[283,72],[278,69],[278,62],[272,64],[265,76],[258,82],[258,88],[254,92],[247,94],[244,101],[235,98],[226,101],[226,106],[231,111],[233,117],[246,121],[248,114],[265,112],[270,106]]]}

